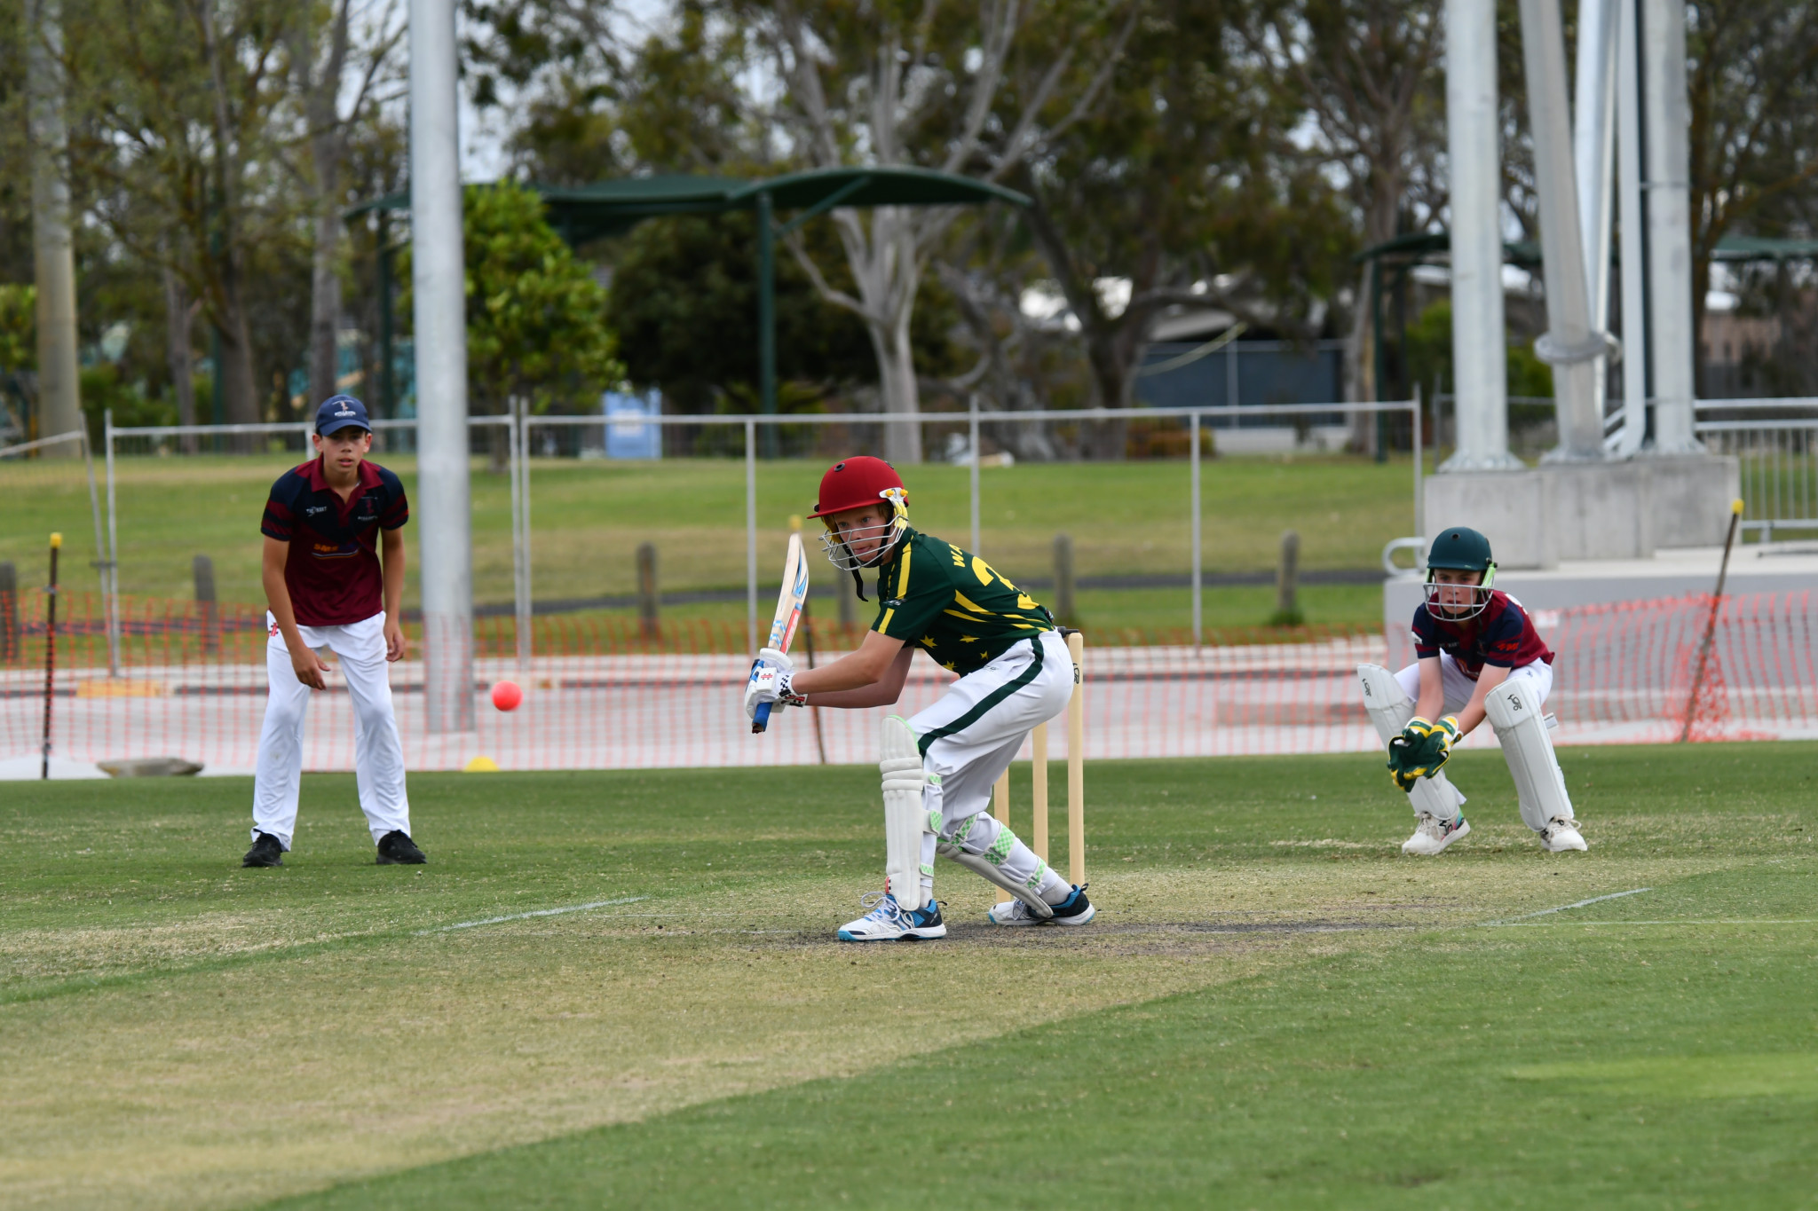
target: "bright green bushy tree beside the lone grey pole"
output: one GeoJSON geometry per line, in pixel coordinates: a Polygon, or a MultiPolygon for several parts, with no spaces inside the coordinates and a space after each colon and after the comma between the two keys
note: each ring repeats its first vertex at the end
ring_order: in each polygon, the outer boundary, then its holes
{"type": "MultiPolygon", "coordinates": [[[[573,410],[624,378],[605,327],[605,289],[544,220],[544,203],[509,182],[469,185],[462,211],[467,261],[467,381],[476,412],[573,410]]],[[[398,278],[411,280],[409,251],[398,278]]],[[[409,289],[398,301],[411,314],[409,289]]]]}

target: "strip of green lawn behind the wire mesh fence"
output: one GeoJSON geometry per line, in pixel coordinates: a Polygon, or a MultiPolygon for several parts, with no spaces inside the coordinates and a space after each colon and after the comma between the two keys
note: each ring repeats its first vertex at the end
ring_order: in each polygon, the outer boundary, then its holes
{"type": "MultiPolygon", "coordinates": [[[[215,561],[222,601],[264,601],[258,583],[258,523],[271,481],[300,456],[196,456],[116,459],[120,590],[155,597],[193,596],[191,559],[215,561]]],[[[376,456],[404,478],[415,501],[416,459],[376,456]]],[[[758,467],[758,568],[782,574],[789,517],[807,514],[822,463],[758,467]]],[[[636,592],[636,548],[658,548],[665,590],[742,588],[745,583],[745,467],[738,459],[609,463],[533,459],[533,585],[538,599],[636,592]]],[[[907,474],[914,523],[971,543],[964,467],[925,465],[907,474]]],[[[511,601],[511,487],[473,463],[474,599],[511,601]]],[[[64,581],[95,583],[95,527],[80,463],[0,465],[0,559],[40,585],[45,539],[65,537],[64,581]]],[[[1218,458],[1204,470],[1204,552],[1209,572],[1256,572],[1276,565],[1282,530],[1302,537],[1304,568],[1373,568],[1383,543],[1413,532],[1413,465],[1356,456],[1218,458]]],[[[104,501],[105,503],[105,501],[104,501]]],[[[1191,568],[1187,463],[1025,463],[987,468],[980,481],[984,554],[1016,579],[1053,576],[1053,541],[1074,541],[1078,576],[1185,576],[1191,568]]],[[[405,528],[416,605],[416,537],[405,528]]],[[[816,565],[818,583],[844,577],[816,565]]],[[[1380,623],[1374,608],[1345,601],[1344,623],[1380,623]]],[[[1374,599],[1374,597],[1373,597],[1374,599]]],[[[1187,626],[1185,588],[1169,590],[1165,621],[1149,603],[1113,597],[1094,612],[1104,626],[1187,626]]],[[[1213,590],[1213,626],[1254,626],[1273,610],[1267,588],[1213,590]],[[1229,621],[1225,619],[1229,615],[1229,621]]],[[[744,606],[733,606],[744,617],[744,606]]],[[[1080,610],[1087,605],[1082,601],[1080,610]]],[[[702,614],[673,606],[674,614],[702,614]]],[[[1324,606],[1313,612],[1329,614],[1324,606]]]]}

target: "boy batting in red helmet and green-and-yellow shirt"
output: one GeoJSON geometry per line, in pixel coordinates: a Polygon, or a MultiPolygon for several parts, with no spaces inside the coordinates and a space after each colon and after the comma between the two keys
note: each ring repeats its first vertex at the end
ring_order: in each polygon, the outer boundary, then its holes
{"type": "Polygon", "coordinates": [[[784,706],[889,706],[902,695],[916,648],[960,674],[947,694],[913,719],[884,721],[882,893],[840,928],[842,942],[947,935],[934,902],[934,855],[1009,891],[991,910],[1000,926],[1082,926],[1094,908],[991,817],[991,786],[1024,737],[1065,710],[1073,659],[1053,615],[978,556],[909,525],[909,494],[889,463],[849,458],[822,476],[811,514],[827,534],[834,566],[878,570],[878,619],[856,652],[822,668],[796,670],[765,648],[745,688],[745,714],[784,706]]]}

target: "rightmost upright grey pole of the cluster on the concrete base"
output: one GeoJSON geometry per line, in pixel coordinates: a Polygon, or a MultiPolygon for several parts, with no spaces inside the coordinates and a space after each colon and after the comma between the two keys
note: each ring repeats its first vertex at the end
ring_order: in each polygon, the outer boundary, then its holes
{"type": "Polygon", "coordinates": [[[1654,452],[1693,454],[1698,334],[1693,330],[1693,222],[1687,200],[1691,113],[1685,98],[1685,7],[1642,0],[1642,145],[1647,149],[1647,320],[1654,452]]]}

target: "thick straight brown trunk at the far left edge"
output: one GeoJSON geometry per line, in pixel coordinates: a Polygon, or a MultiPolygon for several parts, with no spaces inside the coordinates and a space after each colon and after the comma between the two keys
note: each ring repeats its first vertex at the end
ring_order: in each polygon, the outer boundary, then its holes
{"type": "MultiPolygon", "coordinates": [[[[64,47],[58,0],[27,0],[25,85],[31,103],[31,240],[38,283],[38,438],[82,428],[76,363],[76,254],[69,236],[64,154],[64,47]]],[[[75,443],[44,450],[75,458],[75,443]]]]}

